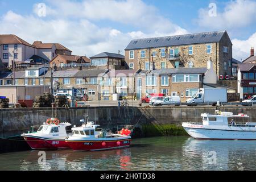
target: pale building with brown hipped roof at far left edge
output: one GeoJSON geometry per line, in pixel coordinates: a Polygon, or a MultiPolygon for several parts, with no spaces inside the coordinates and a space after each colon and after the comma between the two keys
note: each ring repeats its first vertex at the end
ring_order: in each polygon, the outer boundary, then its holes
{"type": "Polygon", "coordinates": [[[20,64],[37,54],[37,48],[16,35],[0,35],[0,59],[5,67],[20,64]]]}

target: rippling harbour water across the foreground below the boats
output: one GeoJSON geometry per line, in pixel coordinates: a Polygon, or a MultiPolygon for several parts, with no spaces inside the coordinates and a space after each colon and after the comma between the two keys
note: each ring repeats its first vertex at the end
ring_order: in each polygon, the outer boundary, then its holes
{"type": "Polygon", "coordinates": [[[0,154],[0,170],[255,170],[255,161],[253,140],[152,137],[133,139],[122,150],[0,154]]]}

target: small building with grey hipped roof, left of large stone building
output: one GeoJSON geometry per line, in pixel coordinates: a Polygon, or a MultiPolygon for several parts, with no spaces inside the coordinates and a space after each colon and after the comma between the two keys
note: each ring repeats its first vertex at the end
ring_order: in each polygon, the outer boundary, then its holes
{"type": "Polygon", "coordinates": [[[125,56],[119,53],[102,52],[90,59],[91,65],[100,69],[125,69],[125,56]]]}

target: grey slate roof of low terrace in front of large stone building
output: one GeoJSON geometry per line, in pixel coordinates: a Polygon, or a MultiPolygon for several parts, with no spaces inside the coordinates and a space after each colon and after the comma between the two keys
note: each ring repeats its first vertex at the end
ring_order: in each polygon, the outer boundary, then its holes
{"type": "Polygon", "coordinates": [[[173,75],[173,74],[200,74],[206,73],[207,68],[170,68],[154,69],[150,74],[173,75]]]}

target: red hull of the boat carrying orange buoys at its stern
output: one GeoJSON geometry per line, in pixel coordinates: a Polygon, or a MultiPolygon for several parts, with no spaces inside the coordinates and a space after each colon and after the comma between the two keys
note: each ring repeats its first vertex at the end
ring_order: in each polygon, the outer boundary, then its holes
{"type": "Polygon", "coordinates": [[[66,140],[75,151],[99,151],[129,147],[131,139],[125,140],[66,140]]]}

